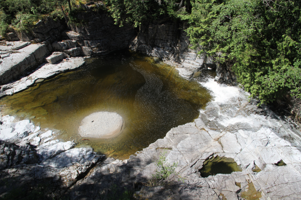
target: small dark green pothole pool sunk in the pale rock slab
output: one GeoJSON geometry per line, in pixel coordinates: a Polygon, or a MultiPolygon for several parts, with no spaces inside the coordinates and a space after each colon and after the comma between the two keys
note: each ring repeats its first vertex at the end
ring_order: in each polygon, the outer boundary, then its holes
{"type": "Polygon", "coordinates": [[[206,178],[216,174],[231,174],[232,172],[241,172],[240,166],[233,158],[212,157],[203,163],[203,167],[199,170],[201,177],[206,178]]]}

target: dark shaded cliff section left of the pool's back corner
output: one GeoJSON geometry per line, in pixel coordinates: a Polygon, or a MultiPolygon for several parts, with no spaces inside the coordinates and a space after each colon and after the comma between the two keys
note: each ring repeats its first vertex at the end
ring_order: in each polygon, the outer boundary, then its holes
{"type": "Polygon", "coordinates": [[[98,56],[127,48],[130,41],[137,35],[133,27],[114,25],[113,18],[107,14],[89,15],[85,26],[70,26],[74,35],[67,34],[70,39],[77,41],[84,55],[98,56]]]}

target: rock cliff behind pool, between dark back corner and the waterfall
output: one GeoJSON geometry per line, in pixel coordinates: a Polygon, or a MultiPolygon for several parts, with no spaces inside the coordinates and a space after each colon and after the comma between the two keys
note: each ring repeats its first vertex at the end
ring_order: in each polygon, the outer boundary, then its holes
{"type": "Polygon", "coordinates": [[[190,78],[203,67],[215,68],[212,57],[198,55],[190,49],[185,29],[187,22],[170,18],[158,19],[140,27],[137,38],[130,48],[145,55],[162,58],[164,62],[177,67],[180,75],[190,78]]]}

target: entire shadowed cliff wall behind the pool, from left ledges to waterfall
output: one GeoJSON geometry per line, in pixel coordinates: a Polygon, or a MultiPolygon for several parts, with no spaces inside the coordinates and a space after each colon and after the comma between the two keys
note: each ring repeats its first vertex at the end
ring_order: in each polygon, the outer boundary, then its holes
{"type": "MultiPolygon", "coordinates": [[[[86,7],[89,11],[90,8],[86,7]]],[[[163,59],[165,63],[175,66],[185,78],[191,78],[204,67],[215,69],[217,66],[216,81],[235,85],[236,80],[230,68],[216,65],[213,57],[198,55],[198,49],[189,48],[185,21],[162,17],[141,25],[137,33],[133,26],[115,25],[113,18],[106,12],[84,12],[76,18],[84,20],[85,25],[67,26],[64,20],[54,21],[47,17],[37,22],[31,32],[12,30],[7,37],[10,40],[46,41],[55,51],[64,52],[66,56],[99,56],[130,48],[163,59]]]]}

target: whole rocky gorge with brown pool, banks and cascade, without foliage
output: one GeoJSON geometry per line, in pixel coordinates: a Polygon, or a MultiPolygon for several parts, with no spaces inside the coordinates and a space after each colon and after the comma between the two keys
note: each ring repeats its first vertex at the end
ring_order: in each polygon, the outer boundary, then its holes
{"type": "Polygon", "coordinates": [[[1,197],[300,198],[299,123],[258,106],[229,68],[189,48],[185,21],[88,21],[48,17],[0,45],[1,197]],[[121,132],[79,134],[99,112],[120,115],[121,132]],[[151,185],[162,155],[174,170],[151,185]]]}

